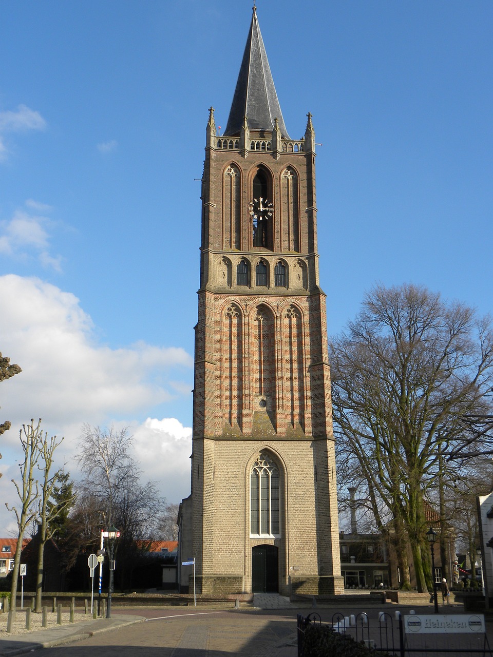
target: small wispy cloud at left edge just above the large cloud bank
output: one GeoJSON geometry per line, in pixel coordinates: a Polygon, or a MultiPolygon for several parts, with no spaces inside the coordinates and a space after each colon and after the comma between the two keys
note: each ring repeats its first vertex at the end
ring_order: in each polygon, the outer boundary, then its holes
{"type": "MultiPolygon", "coordinates": [[[[35,201],[26,201],[34,208],[35,201]]],[[[49,206],[45,206],[49,208],[49,206]]],[[[0,253],[12,258],[35,257],[47,269],[61,271],[61,256],[49,253],[48,217],[16,210],[11,219],[0,221],[0,253]]]]}

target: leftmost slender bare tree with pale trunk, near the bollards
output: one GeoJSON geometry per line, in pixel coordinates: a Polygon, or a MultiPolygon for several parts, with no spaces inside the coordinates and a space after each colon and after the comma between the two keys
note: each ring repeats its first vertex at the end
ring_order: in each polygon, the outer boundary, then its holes
{"type": "Polygon", "coordinates": [[[24,461],[19,464],[21,477],[20,484],[17,484],[17,482],[12,479],[12,483],[16,487],[20,499],[20,509],[17,509],[16,507],[10,509],[9,505],[5,503],[5,506],[9,511],[14,511],[18,527],[17,547],[14,555],[14,569],[12,571],[12,604],[15,604],[17,596],[17,580],[19,576],[20,553],[22,552],[22,539],[24,538],[26,528],[37,515],[35,501],[39,498],[39,488],[37,481],[34,478],[34,474],[37,462],[39,461],[41,433],[41,420],[37,422],[37,425],[34,424],[34,420],[31,420],[31,424],[28,424],[27,426],[26,424],[22,425],[22,429],[19,432],[19,438],[22,451],[24,452],[24,461]]]}

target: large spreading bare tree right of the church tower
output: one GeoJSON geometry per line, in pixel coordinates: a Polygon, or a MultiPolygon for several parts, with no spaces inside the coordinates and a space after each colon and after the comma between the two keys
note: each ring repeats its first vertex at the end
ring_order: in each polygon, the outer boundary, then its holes
{"type": "Polygon", "coordinates": [[[487,408],[490,319],[423,287],[377,286],[329,349],[337,449],[364,480],[377,528],[410,545],[424,591],[427,488],[454,467],[443,455],[469,440],[463,417],[487,408]]]}

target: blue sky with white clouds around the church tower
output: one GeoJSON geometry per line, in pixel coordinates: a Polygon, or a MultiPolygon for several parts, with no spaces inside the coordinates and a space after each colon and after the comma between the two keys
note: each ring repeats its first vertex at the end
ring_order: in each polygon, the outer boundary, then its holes
{"type": "MultiPolygon", "coordinates": [[[[129,426],[166,497],[188,494],[195,179],[208,107],[227,122],[251,5],[1,3],[0,351],[23,369],[0,388],[2,499],[32,417],[65,436],[69,469],[82,422],[129,426]]],[[[287,129],[300,137],[310,111],[322,144],[329,334],[376,282],[490,312],[491,1],[257,6],[287,129]]]]}

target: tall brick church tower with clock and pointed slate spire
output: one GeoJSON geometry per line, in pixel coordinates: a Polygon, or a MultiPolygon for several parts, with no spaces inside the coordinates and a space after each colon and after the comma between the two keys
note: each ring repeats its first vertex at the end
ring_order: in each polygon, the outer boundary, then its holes
{"type": "Polygon", "coordinates": [[[255,7],[205,150],[181,559],[204,594],[342,593],[315,133],[287,133],[255,7]]]}

